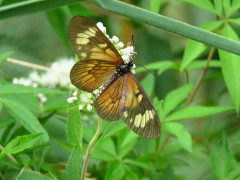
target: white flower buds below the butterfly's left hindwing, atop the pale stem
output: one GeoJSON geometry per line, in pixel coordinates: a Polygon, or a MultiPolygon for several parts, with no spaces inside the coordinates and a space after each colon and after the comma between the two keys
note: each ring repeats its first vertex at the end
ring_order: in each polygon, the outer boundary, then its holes
{"type": "Polygon", "coordinates": [[[99,96],[99,94],[101,93],[102,90],[102,86],[98,89],[96,89],[95,91],[93,91],[93,93],[88,93],[88,92],[84,92],[84,91],[74,91],[73,92],[73,96],[69,97],[67,99],[68,103],[73,103],[74,101],[80,101],[80,105],[78,107],[79,110],[82,110],[84,108],[86,108],[88,111],[91,111],[93,109],[93,101],[96,99],[96,97],[99,96]]]}

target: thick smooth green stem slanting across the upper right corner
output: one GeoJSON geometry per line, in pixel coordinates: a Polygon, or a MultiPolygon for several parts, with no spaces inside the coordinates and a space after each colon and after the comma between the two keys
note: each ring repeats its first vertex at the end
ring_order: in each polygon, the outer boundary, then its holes
{"type": "Polygon", "coordinates": [[[240,42],[116,0],[97,0],[111,12],[240,55],[240,42]]]}

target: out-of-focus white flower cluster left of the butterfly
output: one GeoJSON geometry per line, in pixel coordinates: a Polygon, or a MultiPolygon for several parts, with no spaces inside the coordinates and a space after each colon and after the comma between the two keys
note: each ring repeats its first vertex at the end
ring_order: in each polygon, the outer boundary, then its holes
{"type": "MultiPolygon", "coordinates": [[[[69,80],[69,73],[74,63],[73,59],[63,58],[51,64],[50,68],[52,71],[46,71],[41,74],[33,71],[27,78],[13,78],[12,83],[32,87],[73,89],[74,86],[69,80]]],[[[41,102],[47,101],[47,97],[44,94],[38,94],[37,96],[41,102]]]]}

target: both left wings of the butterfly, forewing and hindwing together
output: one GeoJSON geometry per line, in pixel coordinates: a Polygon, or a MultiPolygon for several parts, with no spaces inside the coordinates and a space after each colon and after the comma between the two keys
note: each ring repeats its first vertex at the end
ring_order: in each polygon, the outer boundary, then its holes
{"type": "Polygon", "coordinates": [[[70,72],[72,84],[91,92],[105,84],[123,60],[105,34],[84,17],[72,18],[69,37],[80,59],[70,72]]]}

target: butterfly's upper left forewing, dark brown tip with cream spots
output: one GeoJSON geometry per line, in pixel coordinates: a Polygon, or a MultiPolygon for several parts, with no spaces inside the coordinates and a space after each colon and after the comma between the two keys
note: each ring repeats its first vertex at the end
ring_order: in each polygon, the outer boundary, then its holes
{"type": "Polygon", "coordinates": [[[116,66],[122,58],[106,35],[88,19],[75,16],[69,24],[69,37],[79,59],[108,61],[116,66]]]}

